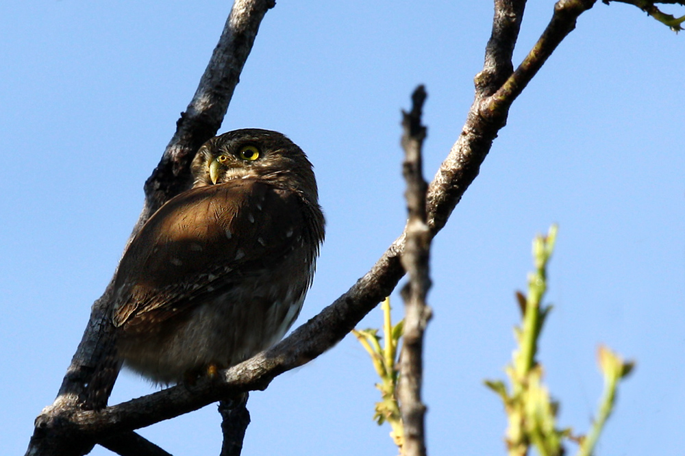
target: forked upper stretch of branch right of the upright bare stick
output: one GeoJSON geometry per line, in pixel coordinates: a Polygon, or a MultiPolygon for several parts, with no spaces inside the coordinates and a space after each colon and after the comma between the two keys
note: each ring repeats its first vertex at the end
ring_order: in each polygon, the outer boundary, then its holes
{"type": "Polygon", "coordinates": [[[515,44],[525,1],[495,1],[493,34],[486,48],[485,65],[475,76],[475,100],[459,139],[428,187],[428,226],[433,233],[445,226],[449,214],[478,175],[497,132],[506,125],[510,105],[573,30],[577,17],[594,4],[595,0],[558,1],[543,36],[516,72],[507,74],[514,49],[512,40],[515,44]]]}

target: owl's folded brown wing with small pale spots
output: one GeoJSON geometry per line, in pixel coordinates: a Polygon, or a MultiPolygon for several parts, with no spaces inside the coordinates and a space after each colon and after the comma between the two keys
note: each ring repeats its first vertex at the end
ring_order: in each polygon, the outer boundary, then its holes
{"type": "Polygon", "coordinates": [[[127,331],[187,312],[271,267],[301,242],[297,194],[253,179],[193,188],[163,205],[121,259],[112,321],[127,331]]]}

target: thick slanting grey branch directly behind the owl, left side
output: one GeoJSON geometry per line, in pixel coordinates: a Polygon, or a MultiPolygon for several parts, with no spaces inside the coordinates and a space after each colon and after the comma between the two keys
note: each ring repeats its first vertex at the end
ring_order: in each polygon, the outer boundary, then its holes
{"type": "MultiPolygon", "coordinates": [[[[201,144],[214,136],[221,126],[262,18],[273,5],[273,0],[235,1],[195,96],[177,122],[176,132],[160,164],[145,183],[145,205],[131,237],[165,201],[188,187],[190,161],[201,144]]],[[[55,429],[56,422],[62,422],[75,409],[82,408],[88,383],[101,360],[111,351],[112,325],[108,320],[111,294],[112,283],[93,304],[88,326],[67,369],[58,397],[36,419],[36,431],[27,455],[79,455],[92,448],[90,442],[69,442],[68,436],[55,435],[51,429],[55,429]]],[[[115,379],[116,375],[110,383],[113,384],[115,379]]]]}

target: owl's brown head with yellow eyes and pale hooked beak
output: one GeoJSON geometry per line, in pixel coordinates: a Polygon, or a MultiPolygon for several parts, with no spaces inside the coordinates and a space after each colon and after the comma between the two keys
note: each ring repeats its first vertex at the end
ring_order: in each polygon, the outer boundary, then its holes
{"type": "Polygon", "coordinates": [[[200,147],[192,160],[193,187],[233,179],[259,179],[295,190],[316,202],[312,164],[297,144],[277,131],[240,129],[216,136],[200,147]]]}

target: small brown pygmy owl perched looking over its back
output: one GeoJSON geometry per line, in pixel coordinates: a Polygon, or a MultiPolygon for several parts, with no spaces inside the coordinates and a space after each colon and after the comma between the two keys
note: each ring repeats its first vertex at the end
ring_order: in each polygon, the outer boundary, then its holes
{"type": "Polygon", "coordinates": [[[212,138],[191,173],[192,188],[149,218],[114,279],[119,359],[157,383],[234,366],[278,342],[323,242],[312,164],[284,135],[212,138]]]}

